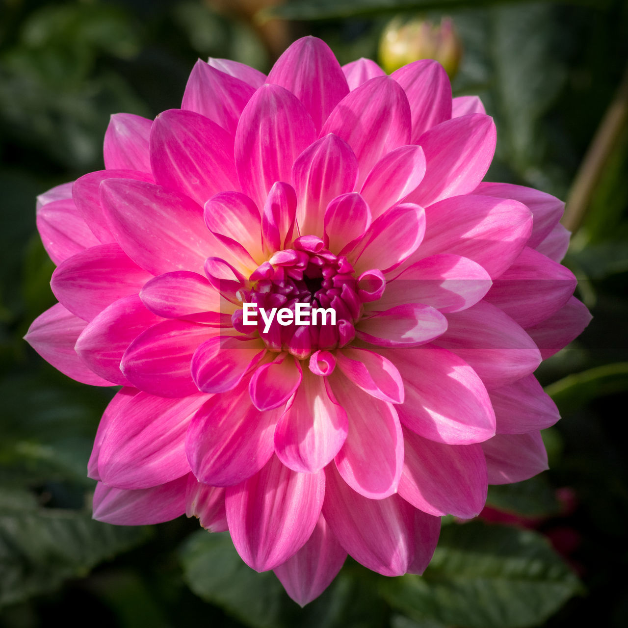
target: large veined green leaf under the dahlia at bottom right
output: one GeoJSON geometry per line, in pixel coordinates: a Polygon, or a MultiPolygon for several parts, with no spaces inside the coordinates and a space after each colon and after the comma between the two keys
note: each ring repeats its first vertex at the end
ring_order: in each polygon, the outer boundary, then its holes
{"type": "Polygon", "coordinates": [[[480,521],[444,528],[423,577],[382,582],[389,603],[420,625],[462,628],[535,626],[578,590],[541,534],[480,521]]]}

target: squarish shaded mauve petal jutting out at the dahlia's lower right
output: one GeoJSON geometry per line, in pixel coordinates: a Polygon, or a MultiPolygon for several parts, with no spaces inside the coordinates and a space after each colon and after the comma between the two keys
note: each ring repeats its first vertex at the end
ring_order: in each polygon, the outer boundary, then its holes
{"type": "Polygon", "coordinates": [[[528,480],[546,470],[548,455],[541,432],[498,434],[482,443],[489,484],[511,484],[528,480]]]}

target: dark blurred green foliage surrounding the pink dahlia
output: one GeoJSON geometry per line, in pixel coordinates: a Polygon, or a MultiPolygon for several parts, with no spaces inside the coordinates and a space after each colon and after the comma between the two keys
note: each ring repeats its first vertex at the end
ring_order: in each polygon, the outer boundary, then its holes
{"type": "MultiPolygon", "coordinates": [[[[563,415],[546,433],[551,470],[489,492],[490,506],[516,525],[448,517],[425,577],[379,577],[348,560],[301,610],[273,574],[249,570],[227,536],[200,531],[195,520],[151,532],[90,519],[85,465],[112,391],[68,380],[21,340],[54,302],[35,197],[102,168],[112,112],[154,116],[178,106],[197,57],[268,70],[272,48],[259,39],[259,23],[210,6],[0,4],[0,627],[36,628],[50,618],[122,628],[628,625],[625,126],[566,259],[595,318],[538,371],[563,415]],[[570,509],[556,499],[560,487],[575,495],[570,509]]],[[[347,63],[374,58],[399,11],[453,16],[465,47],[455,94],[480,95],[497,122],[487,179],[566,197],[624,72],[625,3],[293,0],[259,17],[291,20],[283,24],[291,39],[320,36],[347,63]]]]}

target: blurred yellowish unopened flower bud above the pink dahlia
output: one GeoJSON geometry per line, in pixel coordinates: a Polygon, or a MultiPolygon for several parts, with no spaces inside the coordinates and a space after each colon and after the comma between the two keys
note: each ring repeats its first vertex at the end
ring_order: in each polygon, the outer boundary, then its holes
{"type": "Polygon", "coordinates": [[[462,43],[451,18],[442,18],[440,25],[428,19],[403,23],[394,18],[379,41],[379,59],[387,73],[418,59],[435,59],[453,78],[461,57],[462,43]]]}

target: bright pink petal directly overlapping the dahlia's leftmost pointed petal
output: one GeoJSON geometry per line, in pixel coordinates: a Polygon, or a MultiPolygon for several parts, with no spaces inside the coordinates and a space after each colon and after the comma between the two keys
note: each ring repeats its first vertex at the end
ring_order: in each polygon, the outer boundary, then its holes
{"type": "Polygon", "coordinates": [[[127,386],[129,381],[120,371],[122,355],[140,333],[160,321],[144,307],[138,295],[123,297],[85,327],[75,350],[92,371],[114,384],[127,386]]]}

